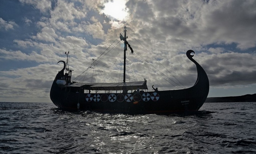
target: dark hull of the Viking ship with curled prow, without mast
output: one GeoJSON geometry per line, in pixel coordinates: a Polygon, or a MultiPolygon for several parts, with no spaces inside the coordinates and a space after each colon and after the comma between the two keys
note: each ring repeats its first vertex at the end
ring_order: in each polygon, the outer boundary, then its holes
{"type": "MultiPolygon", "coordinates": [[[[187,57],[197,67],[197,81],[195,85],[186,89],[167,91],[89,93],[88,89],[95,88],[95,85],[76,85],[76,83],[71,83],[71,75],[68,73],[64,74],[66,65],[62,61],[64,68],[56,75],[51,86],[51,101],[63,110],[79,109],[102,113],[168,114],[198,111],[208,96],[209,80],[204,69],[192,58],[192,52],[195,53],[192,50],[187,51],[187,57]],[[57,84],[58,80],[65,80],[67,82],[65,85],[60,85],[57,84]],[[88,93],[85,93],[85,91],[88,93]]],[[[142,85],[145,86],[146,83],[147,81],[142,85]]]]}

